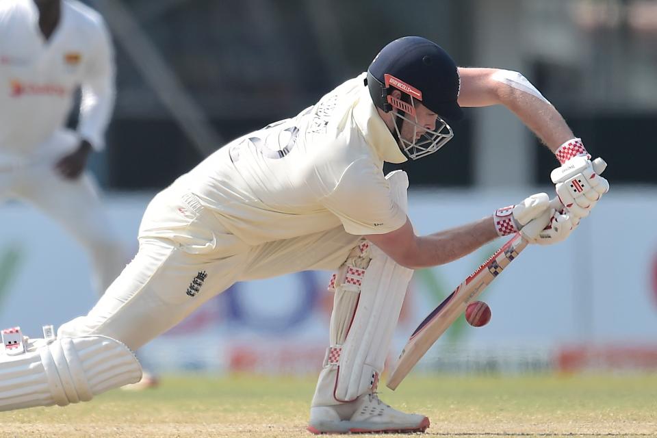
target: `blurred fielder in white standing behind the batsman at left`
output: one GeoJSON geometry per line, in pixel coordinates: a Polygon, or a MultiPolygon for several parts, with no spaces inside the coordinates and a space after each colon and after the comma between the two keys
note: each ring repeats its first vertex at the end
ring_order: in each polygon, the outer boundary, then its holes
{"type": "Polygon", "coordinates": [[[90,257],[99,295],[131,256],[85,170],[105,146],[114,94],[112,45],[99,14],[78,1],[0,1],[0,200],[31,203],[64,227],[90,257]]]}

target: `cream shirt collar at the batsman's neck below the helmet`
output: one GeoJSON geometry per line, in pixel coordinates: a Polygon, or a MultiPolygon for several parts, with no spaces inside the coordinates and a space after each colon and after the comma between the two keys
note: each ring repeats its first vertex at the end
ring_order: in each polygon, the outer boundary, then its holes
{"type": "MultiPolygon", "coordinates": [[[[365,77],[365,73],[359,76],[365,77]]],[[[365,141],[376,151],[376,155],[388,163],[403,163],[407,161],[406,155],[400,151],[395,138],[378,115],[370,90],[363,86],[359,91],[359,99],[354,107],[353,117],[356,125],[363,133],[365,141]]]]}

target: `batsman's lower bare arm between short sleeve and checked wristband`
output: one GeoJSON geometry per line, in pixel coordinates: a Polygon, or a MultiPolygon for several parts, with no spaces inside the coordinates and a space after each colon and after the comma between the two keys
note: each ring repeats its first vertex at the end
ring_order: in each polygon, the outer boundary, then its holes
{"type": "Polygon", "coordinates": [[[461,227],[417,236],[407,218],[400,229],[385,234],[366,235],[394,261],[410,269],[438,266],[472,253],[498,237],[488,216],[461,227]]]}

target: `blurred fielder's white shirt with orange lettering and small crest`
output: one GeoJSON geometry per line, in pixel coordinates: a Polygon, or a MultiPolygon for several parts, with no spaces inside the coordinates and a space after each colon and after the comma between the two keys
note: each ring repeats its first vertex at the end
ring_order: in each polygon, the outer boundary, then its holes
{"type": "Polygon", "coordinates": [[[0,0],[0,156],[41,153],[63,127],[81,87],[79,136],[102,149],[114,105],[114,60],[103,18],[86,5],[62,1],[49,40],[32,0],[0,0]]]}

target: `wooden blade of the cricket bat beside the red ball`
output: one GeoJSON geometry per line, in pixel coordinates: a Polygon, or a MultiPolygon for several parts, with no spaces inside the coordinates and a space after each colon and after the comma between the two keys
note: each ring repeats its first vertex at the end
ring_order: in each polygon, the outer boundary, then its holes
{"type": "Polygon", "coordinates": [[[387,387],[396,389],[415,363],[445,333],[456,318],[465,312],[469,302],[479,296],[526,246],[527,241],[519,233],[515,234],[424,318],[404,346],[394,370],[390,373],[387,387]]]}

